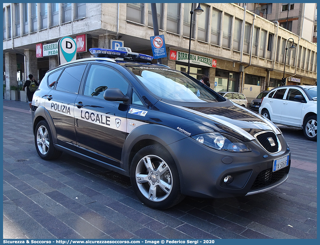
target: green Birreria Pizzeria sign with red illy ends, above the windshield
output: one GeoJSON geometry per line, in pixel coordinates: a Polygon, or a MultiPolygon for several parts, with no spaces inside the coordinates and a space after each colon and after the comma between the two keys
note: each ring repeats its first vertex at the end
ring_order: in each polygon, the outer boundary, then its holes
{"type": "MultiPolygon", "coordinates": [[[[170,50],[170,60],[188,63],[188,53],[170,50]]],[[[197,64],[203,66],[217,67],[217,61],[200,55],[190,54],[190,64],[197,64]]]]}

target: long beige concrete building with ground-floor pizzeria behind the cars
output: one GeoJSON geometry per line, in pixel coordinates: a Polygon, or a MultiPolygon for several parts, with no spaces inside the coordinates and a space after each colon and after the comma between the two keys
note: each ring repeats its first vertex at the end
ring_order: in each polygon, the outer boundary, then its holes
{"type": "MultiPolygon", "coordinates": [[[[316,44],[260,15],[230,3],[156,4],[159,34],[167,57],[162,63],[187,72],[191,24],[190,74],[210,78],[215,91],[241,92],[256,97],[260,91],[287,84],[316,84],[316,44]],[[191,21],[190,21],[191,19],[191,21]],[[191,23],[190,23],[191,22],[191,23]],[[286,52],[286,47],[295,49],[286,52]],[[284,64],[284,61],[286,61],[284,64]]],[[[130,47],[152,55],[155,36],[148,3],[18,3],[3,4],[4,82],[19,85],[29,73],[41,80],[58,66],[56,44],[61,37],[76,39],[77,59],[90,57],[89,48],[130,47]]]]}

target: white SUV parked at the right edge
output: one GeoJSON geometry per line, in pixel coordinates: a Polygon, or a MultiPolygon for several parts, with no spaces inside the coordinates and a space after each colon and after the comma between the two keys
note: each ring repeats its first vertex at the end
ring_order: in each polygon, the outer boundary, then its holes
{"type": "Polygon", "coordinates": [[[262,99],[259,113],[274,123],[300,127],[317,140],[317,86],[282,86],[262,99]]]}

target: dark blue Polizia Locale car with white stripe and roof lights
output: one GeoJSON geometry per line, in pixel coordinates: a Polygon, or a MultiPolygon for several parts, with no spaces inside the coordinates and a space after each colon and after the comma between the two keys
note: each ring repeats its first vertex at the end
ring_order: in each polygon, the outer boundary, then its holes
{"type": "Polygon", "coordinates": [[[275,124],[152,56],[92,48],[46,73],[32,101],[39,156],[62,152],[130,176],[142,203],[245,196],[283,183],[275,124]]]}

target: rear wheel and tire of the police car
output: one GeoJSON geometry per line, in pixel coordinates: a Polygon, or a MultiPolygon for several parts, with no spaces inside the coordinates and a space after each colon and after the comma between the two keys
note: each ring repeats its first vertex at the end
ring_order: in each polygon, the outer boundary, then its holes
{"type": "Polygon", "coordinates": [[[62,154],[54,147],[50,127],[44,120],[36,126],[35,145],[38,155],[44,160],[56,159],[62,154]]]}

